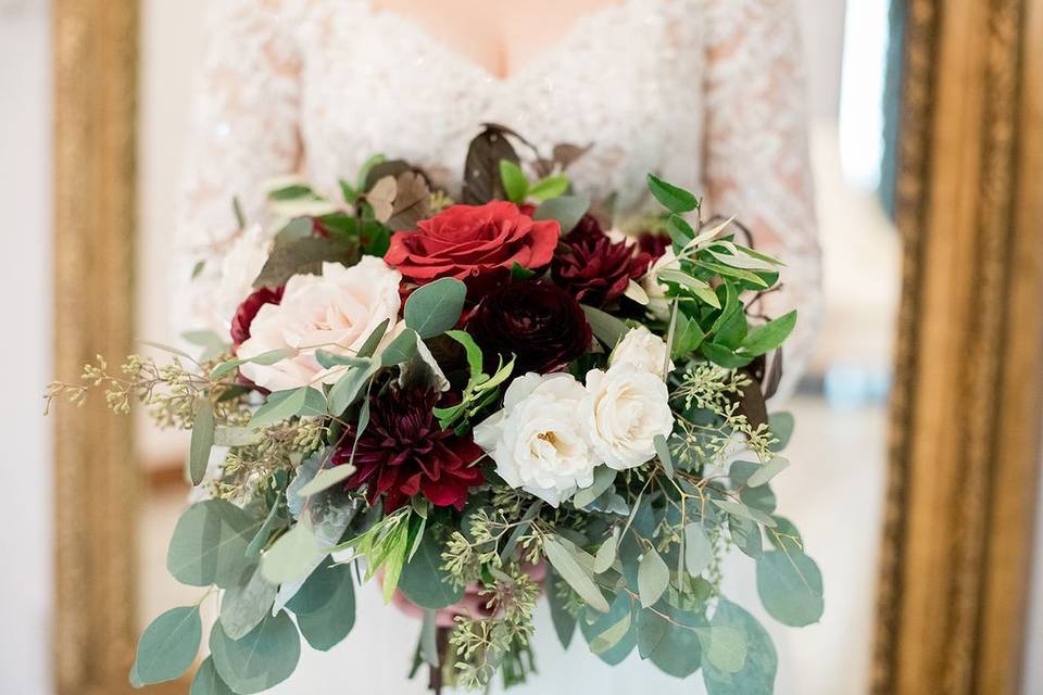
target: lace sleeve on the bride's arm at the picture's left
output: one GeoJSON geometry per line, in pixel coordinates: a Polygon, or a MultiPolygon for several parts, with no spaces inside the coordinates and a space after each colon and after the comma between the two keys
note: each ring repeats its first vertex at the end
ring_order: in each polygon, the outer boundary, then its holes
{"type": "Polygon", "coordinates": [[[218,286],[222,260],[241,236],[233,200],[260,220],[264,181],[299,166],[301,64],[289,1],[218,0],[209,17],[177,205],[172,323],[179,330],[227,331],[218,286]],[[193,268],[201,269],[191,279],[193,268]]]}

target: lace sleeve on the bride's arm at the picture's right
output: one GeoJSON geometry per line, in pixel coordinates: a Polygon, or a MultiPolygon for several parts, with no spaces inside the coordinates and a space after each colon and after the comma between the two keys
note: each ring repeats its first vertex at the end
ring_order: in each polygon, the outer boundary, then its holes
{"type": "Polygon", "coordinates": [[[756,247],[787,263],[765,313],[800,311],[786,351],[791,392],[821,320],[818,245],[796,10],[791,0],[706,1],[706,188],[715,213],[737,215],[756,247]]]}

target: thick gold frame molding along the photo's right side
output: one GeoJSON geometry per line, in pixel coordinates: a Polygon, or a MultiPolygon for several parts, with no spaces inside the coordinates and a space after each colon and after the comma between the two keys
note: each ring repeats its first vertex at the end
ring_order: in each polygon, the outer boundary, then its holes
{"type": "Polygon", "coordinates": [[[1043,394],[1043,1],[908,0],[872,690],[1017,693],[1043,394]]]}

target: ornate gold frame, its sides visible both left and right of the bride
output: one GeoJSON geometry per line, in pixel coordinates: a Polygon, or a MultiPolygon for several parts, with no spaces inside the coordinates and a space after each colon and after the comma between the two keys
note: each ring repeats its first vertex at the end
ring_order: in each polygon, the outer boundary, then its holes
{"type": "MultiPolygon", "coordinates": [[[[139,9],[52,12],[55,371],[70,379],[131,348],[139,9]]],[[[1014,693],[1043,393],[1043,0],[908,0],[906,27],[874,690],[1014,693]]],[[[102,410],[55,414],[62,695],[130,691],[139,472],[129,421],[102,410]]]]}

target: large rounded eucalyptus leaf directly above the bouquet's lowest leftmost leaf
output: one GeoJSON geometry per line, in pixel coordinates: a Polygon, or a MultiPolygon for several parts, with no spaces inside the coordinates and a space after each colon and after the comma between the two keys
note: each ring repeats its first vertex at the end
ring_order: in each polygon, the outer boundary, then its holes
{"type": "Polygon", "coordinates": [[[260,520],[230,502],[197,503],[177,520],[166,568],[183,584],[231,586],[249,565],[247,545],[260,526],[260,520]]]}

